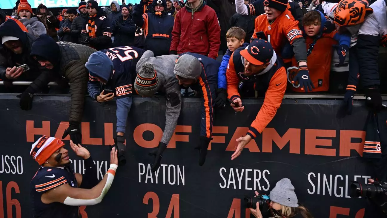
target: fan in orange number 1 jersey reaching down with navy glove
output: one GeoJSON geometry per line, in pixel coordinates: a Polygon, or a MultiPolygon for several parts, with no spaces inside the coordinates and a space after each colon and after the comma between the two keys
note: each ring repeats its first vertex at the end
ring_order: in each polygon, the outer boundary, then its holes
{"type": "MultiPolygon", "coordinates": [[[[291,45],[298,63],[298,74],[292,83],[300,83],[301,90],[305,92],[308,92],[308,89],[312,91],[314,85],[309,78],[305,39],[298,27],[298,21],[295,21],[288,10],[288,0],[265,0],[264,9],[265,14],[255,19],[252,39],[267,39],[279,56],[281,56],[281,51],[288,49],[291,45]]],[[[283,58],[291,58],[291,56],[283,58]]],[[[285,62],[291,62],[291,59],[285,62]]]]}

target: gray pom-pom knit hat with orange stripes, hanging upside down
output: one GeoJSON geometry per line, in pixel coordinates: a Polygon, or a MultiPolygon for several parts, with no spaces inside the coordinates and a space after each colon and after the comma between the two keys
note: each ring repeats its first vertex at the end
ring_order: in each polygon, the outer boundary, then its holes
{"type": "Polygon", "coordinates": [[[153,64],[144,63],[141,66],[139,73],[136,76],[134,88],[143,96],[151,96],[159,90],[160,81],[157,76],[156,70],[154,70],[153,64]]]}

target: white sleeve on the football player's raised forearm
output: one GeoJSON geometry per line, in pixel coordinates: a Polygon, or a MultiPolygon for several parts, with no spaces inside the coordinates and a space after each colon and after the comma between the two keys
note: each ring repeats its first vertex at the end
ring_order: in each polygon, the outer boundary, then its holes
{"type": "MultiPolygon", "coordinates": [[[[117,165],[116,164],[110,164],[109,170],[117,170],[117,165]]],[[[108,193],[108,190],[110,189],[111,183],[114,180],[114,175],[110,173],[108,170],[108,179],[106,180],[105,186],[103,187],[101,194],[99,197],[94,198],[94,199],[75,199],[72,197],[66,197],[65,201],[63,201],[63,204],[70,205],[70,206],[88,206],[88,205],[95,205],[98,204],[102,201],[103,197],[105,197],[106,193],[108,193]]]]}

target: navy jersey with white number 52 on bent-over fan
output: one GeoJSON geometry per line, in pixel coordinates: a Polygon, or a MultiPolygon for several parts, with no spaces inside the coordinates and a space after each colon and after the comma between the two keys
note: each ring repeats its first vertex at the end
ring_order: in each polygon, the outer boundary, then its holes
{"type": "MultiPolygon", "coordinates": [[[[145,51],[141,48],[121,46],[104,49],[101,52],[108,55],[114,65],[113,74],[105,88],[114,90],[118,99],[132,96],[132,84],[136,77],[136,64],[145,51]]],[[[99,83],[90,74],[89,81],[99,83]]]]}

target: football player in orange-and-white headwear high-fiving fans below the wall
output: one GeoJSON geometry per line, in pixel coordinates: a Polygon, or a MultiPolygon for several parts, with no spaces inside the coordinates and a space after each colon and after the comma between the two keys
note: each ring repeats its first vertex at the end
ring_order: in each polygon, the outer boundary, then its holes
{"type": "Polygon", "coordinates": [[[43,136],[31,147],[30,155],[41,165],[30,183],[34,218],[79,218],[79,206],[101,202],[113,182],[118,167],[115,148],[110,152],[110,168],[98,183],[90,152],[70,140],[71,149],[84,159],[81,175],[68,167],[70,157],[64,146],[59,138],[43,136]]]}

